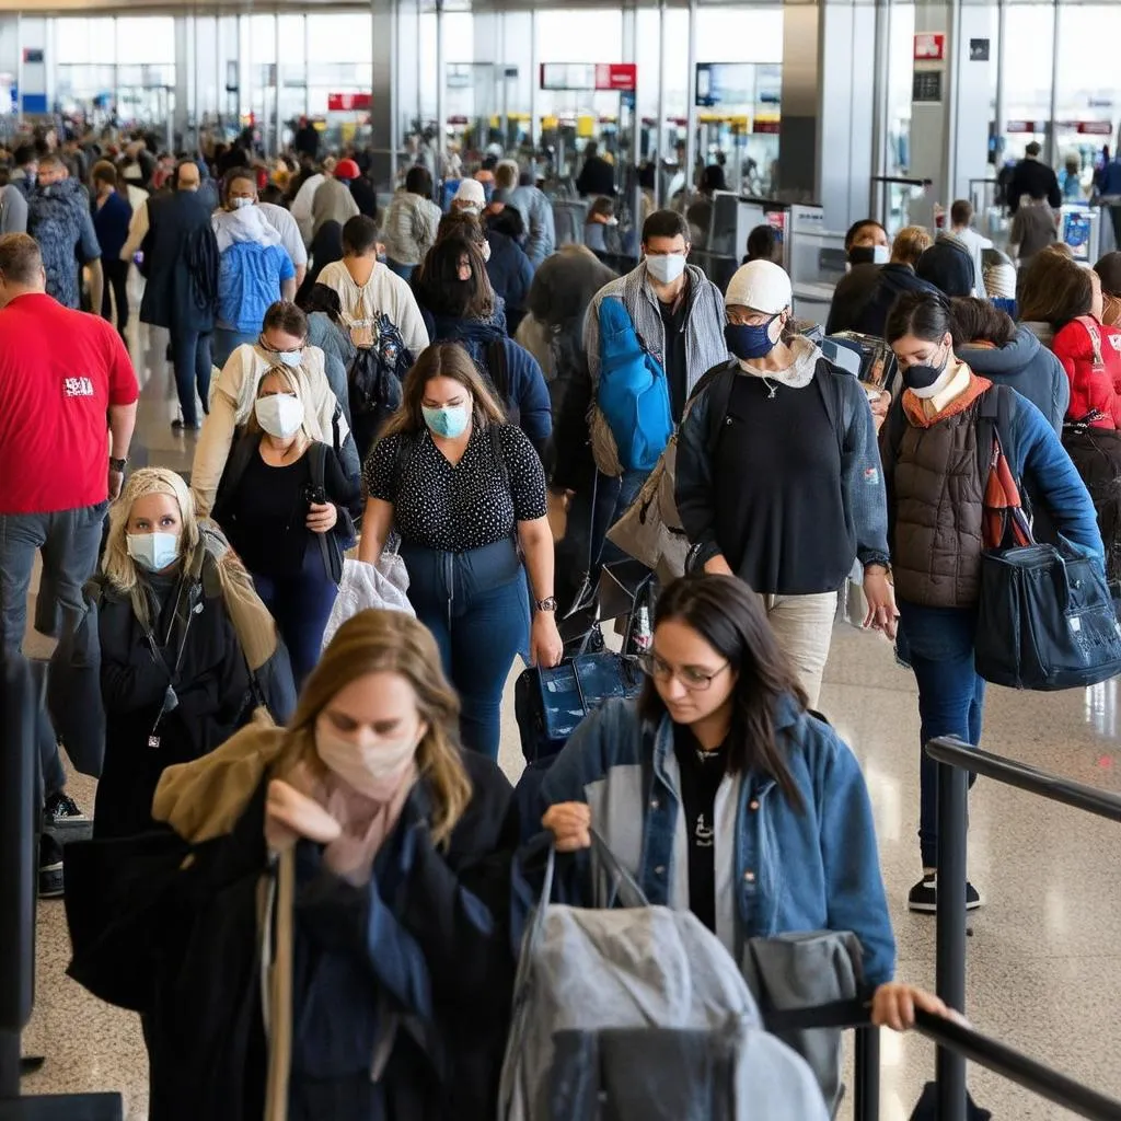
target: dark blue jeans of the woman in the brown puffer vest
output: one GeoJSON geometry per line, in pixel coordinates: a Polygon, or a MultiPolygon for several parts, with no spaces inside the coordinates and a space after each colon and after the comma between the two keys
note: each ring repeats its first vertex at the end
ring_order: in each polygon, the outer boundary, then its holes
{"type": "Polygon", "coordinates": [[[978,615],[972,608],[923,608],[899,601],[907,660],[918,683],[919,850],[924,868],[938,867],[938,765],[925,744],[939,735],[981,742],[984,680],[973,665],[978,615]]]}

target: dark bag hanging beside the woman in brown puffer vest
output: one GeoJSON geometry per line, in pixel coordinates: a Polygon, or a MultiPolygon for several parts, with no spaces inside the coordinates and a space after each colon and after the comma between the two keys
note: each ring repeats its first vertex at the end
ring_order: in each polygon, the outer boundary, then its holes
{"type": "Polygon", "coordinates": [[[1101,562],[1036,541],[1017,490],[994,430],[985,502],[986,515],[1002,508],[1002,528],[981,554],[976,671],[994,685],[1038,691],[1121,674],[1121,624],[1101,562]],[[1009,547],[1012,534],[1018,544],[1009,547]]]}

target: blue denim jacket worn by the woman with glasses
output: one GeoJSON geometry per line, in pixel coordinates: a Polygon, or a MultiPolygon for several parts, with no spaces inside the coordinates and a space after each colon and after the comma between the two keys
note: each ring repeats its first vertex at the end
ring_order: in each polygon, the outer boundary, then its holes
{"type": "MultiPolygon", "coordinates": [[[[852,930],[864,952],[865,981],[890,981],[896,943],[860,765],[827,724],[790,697],[777,706],[775,723],[805,808],[791,805],[770,777],[725,777],[715,815],[716,933],[739,961],[747,938],[852,930]]],[[[608,702],[573,734],[541,795],[546,806],[586,802],[592,825],[650,902],[688,907],[668,716],[654,728],[640,721],[634,702],[608,702]]]]}

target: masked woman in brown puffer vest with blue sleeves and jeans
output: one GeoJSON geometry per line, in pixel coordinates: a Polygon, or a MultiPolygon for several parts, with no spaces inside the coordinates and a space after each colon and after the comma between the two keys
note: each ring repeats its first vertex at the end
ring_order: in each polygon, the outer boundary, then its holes
{"type": "MultiPolygon", "coordinates": [[[[973,646],[990,457],[989,450],[979,447],[979,426],[991,430],[992,421],[980,417],[988,393],[997,393],[1001,405],[997,427],[1013,478],[1073,546],[1101,558],[1102,539],[1086,488],[1047,418],[1016,390],[993,386],[955,356],[944,298],[901,297],[888,318],[887,339],[906,387],[881,448],[900,630],[918,684],[919,750],[939,735],[975,745],[984,682],[974,669],[973,646]]],[[[920,760],[923,879],[908,905],[935,911],[937,767],[925,754],[920,760]]],[[[972,886],[966,906],[981,906],[972,886]]]]}

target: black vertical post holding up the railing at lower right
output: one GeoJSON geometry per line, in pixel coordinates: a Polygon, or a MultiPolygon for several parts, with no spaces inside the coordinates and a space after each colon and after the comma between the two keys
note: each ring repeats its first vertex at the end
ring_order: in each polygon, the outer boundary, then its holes
{"type": "MultiPolygon", "coordinates": [[[[965,1011],[965,771],[938,763],[937,992],[965,1011]]],[[[939,1047],[936,1060],[938,1121],[965,1121],[965,1059],[939,1047]]]]}

